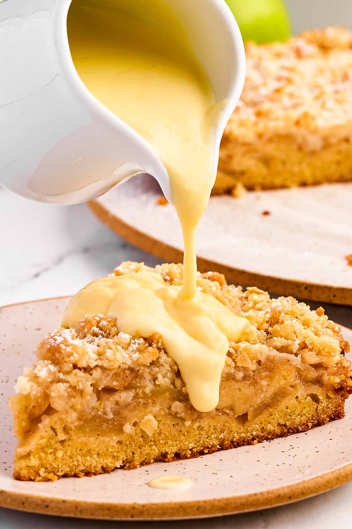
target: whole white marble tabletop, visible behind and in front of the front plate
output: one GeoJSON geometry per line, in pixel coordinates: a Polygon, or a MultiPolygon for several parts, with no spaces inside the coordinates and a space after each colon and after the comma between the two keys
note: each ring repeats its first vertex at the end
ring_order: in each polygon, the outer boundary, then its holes
{"type": "MultiPolygon", "coordinates": [[[[132,247],[98,222],[83,205],[37,204],[0,188],[2,245],[0,250],[0,305],[75,293],[87,282],[109,273],[122,260],[158,259],[132,247]]],[[[318,304],[311,303],[312,307],[318,304]]],[[[352,326],[352,309],[327,306],[335,321],[352,326]]],[[[1,325],[1,322],[0,322],[1,325]]],[[[349,526],[352,484],[299,503],[236,516],[201,521],[160,522],[158,527],[186,524],[190,529],[328,529],[349,526]]],[[[101,522],[54,518],[0,508],[2,529],[127,527],[130,522],[101,522]]],[[[134,522],[155,527],[155,522],[134,522]]]]}

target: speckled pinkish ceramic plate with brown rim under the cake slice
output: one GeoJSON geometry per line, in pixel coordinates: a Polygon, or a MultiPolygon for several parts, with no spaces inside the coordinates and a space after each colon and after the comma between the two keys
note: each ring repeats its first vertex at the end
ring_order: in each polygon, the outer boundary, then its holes
{"type": "MultiPolygon", "coordinates": [[[[39,513],[109,519],[190,518],[240,513],[307,498],[352,480],[352,398],[346,417],[306,433],[138,470],[54,483],[15,481],[15,437],[7,397],[55,329],[68,298],[0,309],[0,505],[39,513]],[[168,472],[193,480],[188,490],[158,490],[148,481],[168,472]]],[[[343,330],[352,340],[352,331],[343,330]]]]}

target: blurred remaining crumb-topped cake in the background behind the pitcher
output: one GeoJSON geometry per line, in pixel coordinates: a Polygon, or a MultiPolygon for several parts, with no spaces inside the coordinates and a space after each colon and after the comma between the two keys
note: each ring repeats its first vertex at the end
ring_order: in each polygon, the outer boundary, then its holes
{"type": "Polygon", "coordinates": [[[352,180],[352,34],[330,27],[246,44],[213,193],[352,180]]]}

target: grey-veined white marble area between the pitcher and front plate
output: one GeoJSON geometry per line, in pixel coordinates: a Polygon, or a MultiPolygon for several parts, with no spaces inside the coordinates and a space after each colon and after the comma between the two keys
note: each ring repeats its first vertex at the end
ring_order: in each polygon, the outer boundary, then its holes
{"type": "Polygon", "coordinates": [[[85,204],[41,204],[0,189],[0,211],[0,305],[74,294],[123,260],[160,262],[107,230],[85,204]]]}

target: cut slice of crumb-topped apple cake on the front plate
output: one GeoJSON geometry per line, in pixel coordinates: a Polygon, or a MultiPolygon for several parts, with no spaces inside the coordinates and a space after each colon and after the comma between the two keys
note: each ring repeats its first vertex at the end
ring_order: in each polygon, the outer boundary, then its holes
{"type": "MultiPolygon", "coordinates": [[[[142,270],[182,284],[181,265],[125,262],[114,273],[142,270]]],[[[34,367],[19,377],[10,399],[16,479],[192,458],[344,416],[352,392],[349,346],[322,308],[270,299],[255,287],[242,291],[216,272],[200,274],[198,289],[248,321],[240,341],[230,342],[216,408],[200,413],[191,405],[159,335],[129,336],[114,318],[87,315],[75,329],[47,336],[34,367]]]]}

